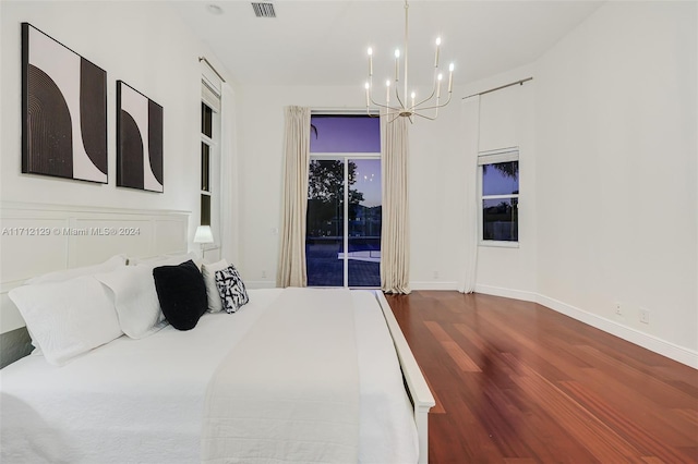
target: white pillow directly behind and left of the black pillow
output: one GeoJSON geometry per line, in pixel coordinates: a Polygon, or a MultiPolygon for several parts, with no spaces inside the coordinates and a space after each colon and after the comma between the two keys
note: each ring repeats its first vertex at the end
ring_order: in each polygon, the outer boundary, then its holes
{"type": "Polygon", "coordinates": [[[143,339],[167,325],[157,300],[152,266],[123,266],[95,278],[111,292],[119,326],[130,338],[143,339]]]}

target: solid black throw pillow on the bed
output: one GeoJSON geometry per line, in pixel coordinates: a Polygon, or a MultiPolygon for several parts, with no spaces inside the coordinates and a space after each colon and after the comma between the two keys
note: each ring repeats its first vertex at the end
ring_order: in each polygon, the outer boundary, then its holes
{"type": "Polygon", "coordinates": [[[153,269],[155,290],[165,318],[177,330],[191,330],[206,313],[206,284],[191,259],[153,269]]]}

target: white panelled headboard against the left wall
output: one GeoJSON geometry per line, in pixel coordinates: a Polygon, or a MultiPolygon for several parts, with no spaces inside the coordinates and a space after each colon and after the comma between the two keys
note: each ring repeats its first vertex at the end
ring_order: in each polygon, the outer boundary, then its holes
{"type": "Polygon", "coordinates": [[[28,344],[24,320],[8,297],[10,290],[28,278],[113,255],[186,253],[189,216],[174,210],[0,203],[0,367],[21,357],[28,344]]]}

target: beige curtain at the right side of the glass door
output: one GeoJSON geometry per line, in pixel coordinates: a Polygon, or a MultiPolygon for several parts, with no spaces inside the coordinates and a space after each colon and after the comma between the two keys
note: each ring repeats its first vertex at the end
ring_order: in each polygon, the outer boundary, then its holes
{"type": "Polygon", "coordinates": [[[407,118],[388,122],[381,117],[383,131],[383,227],[381,231],[381,289],[410,293],[410,234],[407,118]]]}

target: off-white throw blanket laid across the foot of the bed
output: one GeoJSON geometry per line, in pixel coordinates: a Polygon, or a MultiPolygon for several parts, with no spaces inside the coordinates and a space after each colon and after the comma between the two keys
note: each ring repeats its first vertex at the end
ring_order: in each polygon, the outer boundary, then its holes
{"type": "Polygon", "coordinates": [[[356,463],[354,332],[349,290],[284,290],[208,384],[202,462],[356,463]]]}

